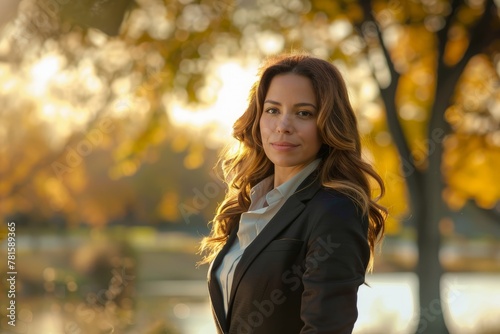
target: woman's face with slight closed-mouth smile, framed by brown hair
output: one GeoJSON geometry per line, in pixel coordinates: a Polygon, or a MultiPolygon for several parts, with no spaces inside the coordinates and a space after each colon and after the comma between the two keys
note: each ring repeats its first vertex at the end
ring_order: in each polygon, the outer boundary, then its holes
{"type": "Polygon", "coordinates": [[[286,73],[271,80],[260,118],[264,152],[275,173],[290,176],[316,159],[321,139],[316,124],[319,106],[309,78],[286,73]]]}

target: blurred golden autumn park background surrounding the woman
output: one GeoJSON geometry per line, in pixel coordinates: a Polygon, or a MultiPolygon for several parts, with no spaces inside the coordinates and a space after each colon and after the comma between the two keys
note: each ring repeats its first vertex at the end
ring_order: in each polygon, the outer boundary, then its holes
{"type": "Polygon", "coordinates": [[[2,0],[0,332],[214,333],[214,166],[259,63],[303,50],[344,74],[387,185],[355,333],[500,333],[499,8],[2,0]]]}

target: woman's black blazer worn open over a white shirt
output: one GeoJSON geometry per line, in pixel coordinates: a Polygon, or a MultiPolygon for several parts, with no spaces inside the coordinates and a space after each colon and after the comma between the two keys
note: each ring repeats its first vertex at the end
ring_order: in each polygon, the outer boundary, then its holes
{"type": "Polygon", "coordinates": [[[227,316],[215,271],[237,228],[211,263],[208,289],[218,333],[352,332],[370,258],[368,219],[349,197],[321,187],[315,174],[246,248],[227,316]]]}

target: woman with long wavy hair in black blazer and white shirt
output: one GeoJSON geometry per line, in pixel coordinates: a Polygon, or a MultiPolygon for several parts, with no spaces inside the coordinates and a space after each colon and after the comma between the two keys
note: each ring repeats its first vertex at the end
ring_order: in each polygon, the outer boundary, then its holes
{"type": "Polygon", "coordinates": [[[218,333],[351,333],[386,210],[340,73],[307,55],[271,59],[234,136],[201,245],[218,333]]]}

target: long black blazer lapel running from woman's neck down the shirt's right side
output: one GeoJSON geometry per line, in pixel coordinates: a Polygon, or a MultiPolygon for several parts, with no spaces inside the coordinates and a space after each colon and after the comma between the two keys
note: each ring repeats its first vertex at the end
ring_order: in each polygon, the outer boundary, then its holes
{"type": "Polygon", "coordinates": [[[228,318],[230,318],[234,295],[236,294],[238,285],[250,264],[281,231],[283,231],[295,220],[295,218],[305,209],[306,206],[304,202],[314,196],[314,194],[320,189],[320,184],[318,180],[315,179],[316,175],[317,174],[313,172],[304,180],[304,182],[302,182],[302,184],[297,188],[297,191],[288,198],[285,204],[264,227],[261,233],[259,233],[255,240],[245,249],[240,262],[236,266],[233,276],[233,283],[229,298],[228,318]]]}

